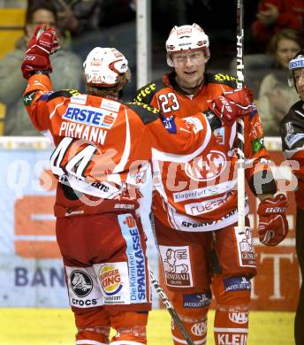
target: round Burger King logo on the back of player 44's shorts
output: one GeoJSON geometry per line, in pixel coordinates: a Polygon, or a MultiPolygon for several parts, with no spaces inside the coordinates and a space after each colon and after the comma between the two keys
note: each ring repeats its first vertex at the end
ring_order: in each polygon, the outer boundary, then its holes
{"type": "Polygon", "coordinates": [[[103,265],[101,267],[99,280],[105,295],[116,295],[123,288],[120,272],[118,268],[112,265],[103,265]]]}

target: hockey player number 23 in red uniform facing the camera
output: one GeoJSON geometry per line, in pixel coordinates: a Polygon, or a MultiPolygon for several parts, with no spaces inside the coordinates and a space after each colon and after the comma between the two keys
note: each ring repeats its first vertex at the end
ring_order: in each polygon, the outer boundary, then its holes
{"type": "MultiPolygon", "coordinates": [[[[231,95],[235,96],[236,78],[205,72],[209,37],[201,27],[173,27],[166,50],[167,63],[174,70],[163,75],[162,82],[139,89],[135,100],[180,118],[197,111],[219,114],[227,107],[231,95]]],[[[282,194],[274,196],[277,187],[255,108],[244,121],[246,178],[261,201],[258,233],[262,243],[273,246],[288,232],[287,202],[282,194]]],[[[237,229],[236,132],[235,123],[215,128],[217,144],[207,157],[199,154],[188,157],[186,164],[173,165],[165,153],[159,153],[153,162],[153,213],[164,281],[195,344],[207,341],[210,287],[217,302],[216,344],[247,343],[250,279],[256,265],[248,219],[245,234],[237,229]]],[[[175,345],[184,343],[174,322],[171,333],[175,345]]]]}

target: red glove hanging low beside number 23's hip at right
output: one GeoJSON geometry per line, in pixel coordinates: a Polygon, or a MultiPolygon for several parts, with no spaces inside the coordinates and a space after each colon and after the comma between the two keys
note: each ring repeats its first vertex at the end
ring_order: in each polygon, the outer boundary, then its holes
{"type": "Polygon", "coordinates": [[[283,194],[268,197],[258,207],[258,233],[260,242],[266,246],[276,246],[288,234],[286,219],[287,199],[283,194]]]}

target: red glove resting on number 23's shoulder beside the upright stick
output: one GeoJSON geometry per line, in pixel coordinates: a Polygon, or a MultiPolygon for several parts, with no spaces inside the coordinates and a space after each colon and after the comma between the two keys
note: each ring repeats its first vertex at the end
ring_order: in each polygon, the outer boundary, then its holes
{"type": "Polygon", "coordinates": [[[221,96],[209,103],[209,110],[213,111],[227,125],[255,109],[253,95],[249,88],[235,88],[224,91],[221,96]]]}

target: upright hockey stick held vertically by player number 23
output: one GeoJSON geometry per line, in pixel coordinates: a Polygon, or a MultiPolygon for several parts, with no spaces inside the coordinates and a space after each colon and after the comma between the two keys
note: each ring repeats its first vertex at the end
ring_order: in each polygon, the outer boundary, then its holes
{"type": "MultiPolygon", "coordinates": [[[[237,0],[237,88],[244,84],[244,5],[237,0]]],[[[245,234],[245,155],[244,155],[244,119],[238,120],[238,231],[245,234]]]]}

